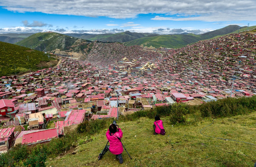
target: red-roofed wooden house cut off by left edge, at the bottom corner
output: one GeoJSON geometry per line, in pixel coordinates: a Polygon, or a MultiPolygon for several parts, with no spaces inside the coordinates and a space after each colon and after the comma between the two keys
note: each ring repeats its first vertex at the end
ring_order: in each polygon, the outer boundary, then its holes
{"type": "Polygon", "coordinates": [[[15,127],[0,129],[0,153],[5,153],[12,146],[15,127]]]}

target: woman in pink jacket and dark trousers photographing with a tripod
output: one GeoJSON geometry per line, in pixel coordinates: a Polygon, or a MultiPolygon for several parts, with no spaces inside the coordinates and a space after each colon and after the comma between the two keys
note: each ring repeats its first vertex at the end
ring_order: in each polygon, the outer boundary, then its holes
{"type": "Polygon", "coordinates": [[[123,136],[123,132],[121,131],[121,128],[119,128],[118,125],[111,124],[108,128],[106,136],[109,141],[109,146],[106,146],[103,152],[99,154],[99,160],[109,150],[110,153],[115,154],[115,158],[118,159],[120,163],[123,163],[123,147],[120,141],[123,136]]]}

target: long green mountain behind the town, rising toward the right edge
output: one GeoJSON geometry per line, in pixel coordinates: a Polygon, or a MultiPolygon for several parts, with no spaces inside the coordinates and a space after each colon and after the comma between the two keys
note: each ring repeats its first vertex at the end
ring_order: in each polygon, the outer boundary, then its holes
{"type": "MultiPolygon", "coordinates": [[[[254,29],[256,26],[248,27],[248,30],[254,29]]],[[[140,39],[135,39],[132,41],[125,42],[124,45],[144,45],[144,46],[153,46],[155,48],[167,47],[167,48],[179,48],[185,45],[198,42],[200,40],[211,39],[219,36],[223,36],[229,33],[237,33],[240,29],[240,32],[246,31],[247,27],[240,27],[236,25],[226,26],[224,28],[206,32],[204,34],[195,35],[195,34],[176,34],[176,35],[159,35],[155,37],[144,37],[140,39]]]]}

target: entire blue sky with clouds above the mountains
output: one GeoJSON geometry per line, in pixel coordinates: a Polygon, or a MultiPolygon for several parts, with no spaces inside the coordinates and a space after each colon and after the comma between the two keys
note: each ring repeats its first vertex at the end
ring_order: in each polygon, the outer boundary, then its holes
{"type": "Polygon", "coordinates": [[[4,0],[0,33],[160,34],[256,25],[256,0],[4,0]]]}

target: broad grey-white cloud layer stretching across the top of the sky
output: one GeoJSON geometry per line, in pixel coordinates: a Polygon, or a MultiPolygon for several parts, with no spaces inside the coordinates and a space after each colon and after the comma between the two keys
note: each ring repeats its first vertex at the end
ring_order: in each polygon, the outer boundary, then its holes
{"type": "MultiPolygon", "coordinates": [[[[240,21],[256,20],[256,0],[1,0],[0,6],[14,12],[42,12],[78,16],[136,18],[159,13],[155,20],[240,21]]],[[[129,23],[128,23],[129,24],[129,23]]]]}

